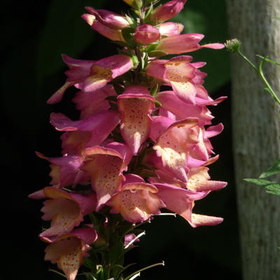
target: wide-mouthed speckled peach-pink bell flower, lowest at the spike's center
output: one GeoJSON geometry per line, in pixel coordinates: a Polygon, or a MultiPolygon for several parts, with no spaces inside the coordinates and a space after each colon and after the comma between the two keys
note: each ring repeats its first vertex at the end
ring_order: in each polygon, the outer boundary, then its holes
{"type": "Polygon", "coordinates": [[[127,174],[123,186],[107,205],[112,207],[111,213],[120,213],[131,223],[143,222],[152,214],[160,214],[160,208],[165,207],[156,193],[158,189],[140,176],[127,174]]]}

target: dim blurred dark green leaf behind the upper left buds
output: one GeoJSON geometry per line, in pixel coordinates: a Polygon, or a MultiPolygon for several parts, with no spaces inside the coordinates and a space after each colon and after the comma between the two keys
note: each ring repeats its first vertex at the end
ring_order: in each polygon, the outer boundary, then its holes
{"type": "Polygon", "coordinates": [[[92,43],[95,34],[80,18],[85,13],[85,6],[94,4],[102,8],[103,0],[53,0],[48,7],[45,26],[38,38],[36,69],[38,79],[56,73],[64,63],[61,54],[78,57],[87,45],[92,43]]]}

